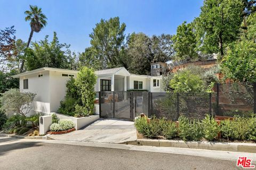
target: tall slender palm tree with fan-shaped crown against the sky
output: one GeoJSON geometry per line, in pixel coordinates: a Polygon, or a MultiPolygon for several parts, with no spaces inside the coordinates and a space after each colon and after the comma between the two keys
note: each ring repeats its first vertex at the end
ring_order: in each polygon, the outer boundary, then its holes
{"type": "MultiPolygon", "coordinates": [[[[39,32],[41,31],[42,28],[45,27],[47,24],[46,16],[45,14],[42,13],[42,8],[38,8],[37,6],[29,5],[30,10],[25,11],[25,14],[27,15],[25,18],[25,21],[30,21],[30,35],[28,38],[28,43],[27,43],[27,48],[29,47],[31,38],[33,36],[34,31],[39,32]]],[[[25,60],[22,60],[21,67],[20,67],[20,72],[23,71],[25,60]]]]}

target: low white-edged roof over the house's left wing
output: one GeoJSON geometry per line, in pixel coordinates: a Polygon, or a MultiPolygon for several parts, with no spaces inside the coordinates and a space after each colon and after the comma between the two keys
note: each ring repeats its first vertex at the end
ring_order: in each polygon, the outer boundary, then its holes
{"type": "Polygon", "coordinates": [[[73,73],[73,74],[78,73],[78,71],[75,71],[75,70],[67,70],[67,69],[56,69],[56,68],[50,68],[50,67],[42,67],[42,68],[40,68],[40,69],[31,70],[31,71],[27,71],[27,72],[24,72],[24,73],[16,74],[16,75],[13,75],[12,77],[13,77],[13,78],[19,78],[19,77],[22,77],[22,76],[25,76],[25,75],[29,75],[29,74],[33,74],[33,73],[39,73],[39,72],[42,72],[42,71],[58,71],[58,72],[73,73]]]}

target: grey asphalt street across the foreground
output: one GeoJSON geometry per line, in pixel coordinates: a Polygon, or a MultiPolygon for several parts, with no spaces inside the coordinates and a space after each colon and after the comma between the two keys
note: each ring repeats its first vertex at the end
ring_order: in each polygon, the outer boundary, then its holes
{"type": "MultiPolygon", "coordinates": [[[[15,139],[12,139],[15,140],[15,139]]],[[[0,144],[1,141],[0,140],[0,144]]],[[[239,169],[235,160],[159,152],[11,142],[0,145],[0,169],[239,169]]]]}

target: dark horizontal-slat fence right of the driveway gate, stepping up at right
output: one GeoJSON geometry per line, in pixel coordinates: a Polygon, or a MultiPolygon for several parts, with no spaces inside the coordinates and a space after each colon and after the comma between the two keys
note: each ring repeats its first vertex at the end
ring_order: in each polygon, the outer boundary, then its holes
{"type": "Polygon", "coordinates": [[[256,86],[248,83],[216,84],[212,93],[149,93],[149,116],[178,120],[180,115],[202,119],[256,113],[256,86]]]}

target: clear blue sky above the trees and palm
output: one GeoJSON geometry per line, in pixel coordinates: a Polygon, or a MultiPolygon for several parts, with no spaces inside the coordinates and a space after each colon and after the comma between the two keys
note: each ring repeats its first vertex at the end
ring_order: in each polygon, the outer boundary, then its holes
{"type": "Polygon", "coordinates": [[[101,19],[119,16],[120,22],[126,24],[126,35],[132,32],[172,35],[179,24],[191,22],[200,14],[203,0],[0,0],[0,4],[0,29],[14,25],[17,39],[27,42],[30,26],[24,12],[29,5],[37,5],[47,16],[47,25],[34,33],[32,41],[46,35],[51,40],[55,31],[60,43],[70,44],[74,52],[84,52],[90,46],[89,34],[101,19]]]}

